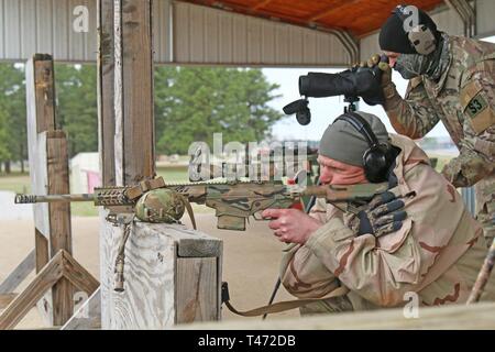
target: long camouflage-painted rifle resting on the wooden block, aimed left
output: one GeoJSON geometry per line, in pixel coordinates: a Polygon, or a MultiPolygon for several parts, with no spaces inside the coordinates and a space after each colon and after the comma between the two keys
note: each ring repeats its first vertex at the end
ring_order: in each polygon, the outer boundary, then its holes
{"type": "Polygon", "coordinates": [[[143,182],[134,187],[95,188],[85,195],[16,195],[15,204],[57,201],[94,201],[109,210],[108,220],[117,223],[118,215],[133,213],[134,205],[145,193],[168,188],[184,196],[189,202],[205,205],[216,210],[217,227],[224,230],[245,230],[250,217],[262,220],[265,209],[286,209],[302,197],[316,196],[328,202],[367,201],[387,190],[387,184],[363,184],[353,186],[299,186],[282,183],[191,183],[166,185],[162,177],[143,182]]]}

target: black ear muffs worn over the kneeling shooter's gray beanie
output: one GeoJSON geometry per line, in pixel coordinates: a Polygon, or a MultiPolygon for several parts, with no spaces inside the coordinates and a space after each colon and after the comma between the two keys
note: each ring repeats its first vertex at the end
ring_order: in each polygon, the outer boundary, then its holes
{"type": "Polygon", "coordinates": [[[360,114],[348,112],[337,118],[337,121],[349,122],[365,139],[370,148],[363,154],[364,175],[371,183],[383,183],[387,179],[388,168],[391,167],[389,147],[387,144],[380,143],[373,130],[360,114]]]}

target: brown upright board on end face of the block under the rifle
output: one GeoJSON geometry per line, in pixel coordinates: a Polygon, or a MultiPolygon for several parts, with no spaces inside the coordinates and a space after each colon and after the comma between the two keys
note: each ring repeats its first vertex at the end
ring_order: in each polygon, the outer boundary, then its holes
{"type": "Polygon", "coordinates": [[[177,258],[176,323],[220,319],[216,257],[177,258]]]}

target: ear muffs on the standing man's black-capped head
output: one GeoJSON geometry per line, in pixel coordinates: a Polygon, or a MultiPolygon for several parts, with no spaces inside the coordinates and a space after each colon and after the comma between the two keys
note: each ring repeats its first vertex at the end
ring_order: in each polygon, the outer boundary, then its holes
{"type": "Polygon", "coordinates": [[[430,28],[426,24],[419,23],[418,11],[418,8],[414,6],[398,6],[395,8],[393,13],[400,19],[403,24],[406,24],[406,21],[410,21],[410,28],[406,28],[406,25],[404,25],[404,31],[407,33],[410,45],[418,54],[429,55],[437,48],[437,37],[430,28]],[[411,19],[414,15],[416,15],[416,19],[411,19]],[[415,23],[415,20],[417,20],[418,23],[415,23]]]}

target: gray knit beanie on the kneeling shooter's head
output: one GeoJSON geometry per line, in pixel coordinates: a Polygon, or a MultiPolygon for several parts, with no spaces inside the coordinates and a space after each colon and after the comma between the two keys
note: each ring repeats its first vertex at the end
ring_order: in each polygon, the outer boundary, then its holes
{"type": "MultiPolygon", "coordinates": [[[[374,114],[358,111],[372,128],[380,143],[388,143],[388,132],[374,114]]],[[[366,138],[348,121],[339,120],[330,124],[320,141],[319,154],[334,161],[363,166],[363,155],[370,148],[366,138]]]]}

